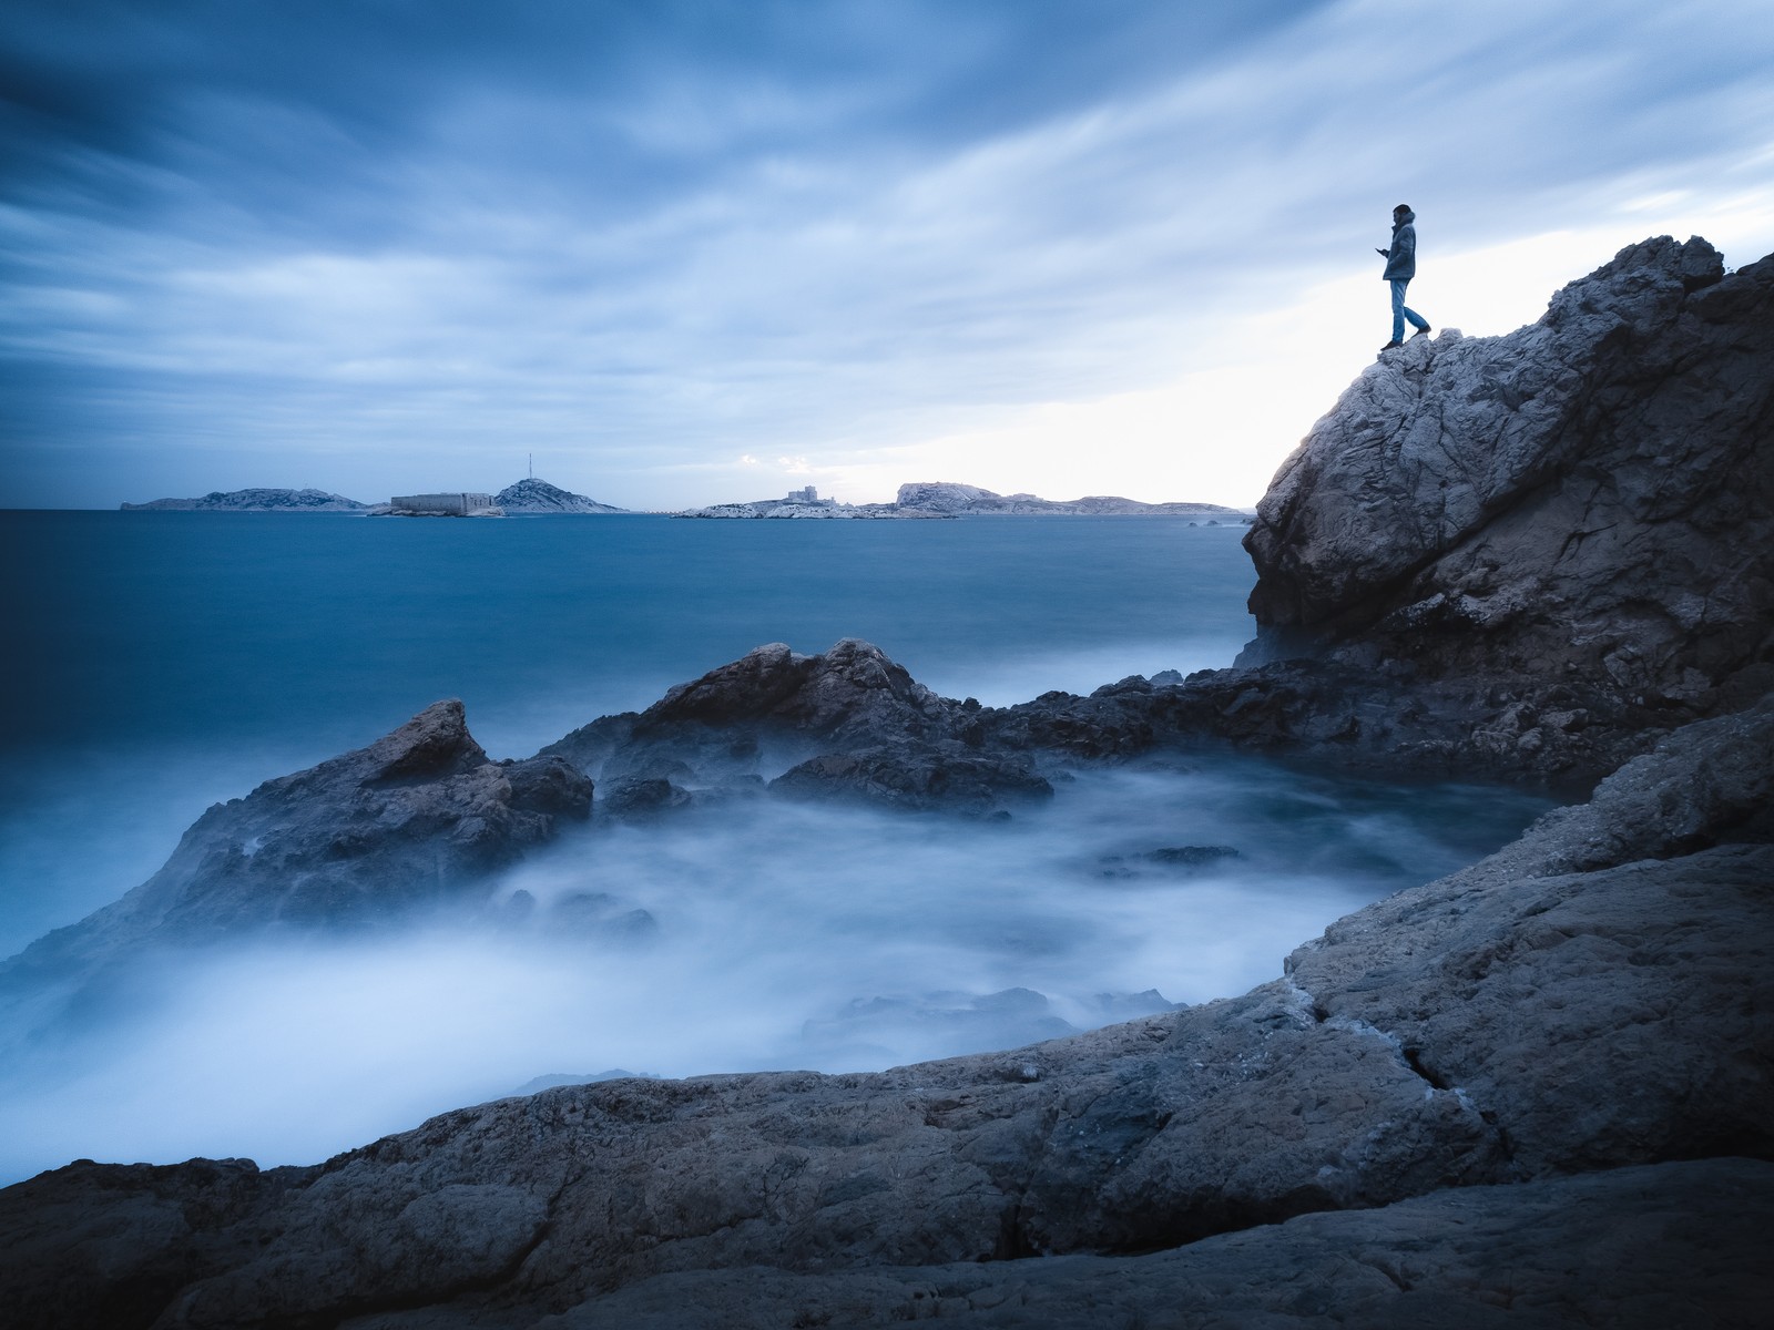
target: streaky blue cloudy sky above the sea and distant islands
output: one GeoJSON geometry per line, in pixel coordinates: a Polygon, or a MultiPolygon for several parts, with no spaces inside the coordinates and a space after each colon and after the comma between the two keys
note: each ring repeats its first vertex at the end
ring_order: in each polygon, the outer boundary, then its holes
{"type": "Polygon", "coordinates": [[[1410,303],[1774,250],[1767,0],[9,0],[0,507],[1251,505],[1410,303]]]}

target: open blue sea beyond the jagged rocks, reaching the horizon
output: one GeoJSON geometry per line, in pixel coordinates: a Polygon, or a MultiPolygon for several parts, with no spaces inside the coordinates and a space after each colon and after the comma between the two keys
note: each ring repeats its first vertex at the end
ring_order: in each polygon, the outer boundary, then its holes
{"type": "Polygon", "coordinates": [[[765,642],[864,637],[986,704],[1224,665],[1238,527],[1142,518],[4,512],[0,954],[209,803],[461,697],[523,755],[765,642]]]}

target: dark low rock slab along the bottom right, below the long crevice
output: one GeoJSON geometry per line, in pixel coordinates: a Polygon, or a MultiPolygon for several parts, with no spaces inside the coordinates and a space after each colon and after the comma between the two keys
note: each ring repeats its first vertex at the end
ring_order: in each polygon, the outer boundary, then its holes
{"type": "MultiPolygon", "coordinates": [[[[536,1330],[1668,1330],[1767,1325],[1774,1165],[1705,1160],[1304,1215],[1139,1257],[660,1275],[536,1330]]],[[[458,1325],[470,1325],[459,1321],[458,1325]]],[[[362,1330],[452,1325],[378,1316],[362,1330]]],[[[516,1321],[513,1325],[518,1325],[516,1321]]]]}

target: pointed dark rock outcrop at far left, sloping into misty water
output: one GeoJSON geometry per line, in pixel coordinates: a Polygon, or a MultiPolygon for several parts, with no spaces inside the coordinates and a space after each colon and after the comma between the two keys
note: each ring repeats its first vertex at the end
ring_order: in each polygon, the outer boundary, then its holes
{"type": "Polygon", "coordinates": [[[559,757],[488,759],[461,702],[436,702],[367,748],[211,807],[160,872],[5,961],[0,995],[35,1000],[151,947],[369,927],[472,899],[584,819],[591,794],[559,757]]]}

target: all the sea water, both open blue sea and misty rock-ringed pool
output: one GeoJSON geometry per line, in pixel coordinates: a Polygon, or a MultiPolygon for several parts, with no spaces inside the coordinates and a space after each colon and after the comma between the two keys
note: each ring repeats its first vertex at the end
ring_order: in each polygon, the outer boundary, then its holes
{"type": "MultiPolygon", "coordinates": [[[[860,637],[986,706],[1229,665],[1254,631],[1242,534],[4,512],[0,954],[144,881],[209,803],[444,697],[523,757],[766,642],[860,637]]],[[[596,894],[646,929],[429,922],[188,958],[0,1068],[0,1181],[316,1162],[550,1080],[871,1069],[1212,1000],[1545,807],[1203,750],[1080,771],[1009,823],[765,803],[577,830],[495,897],[596,894]],[[1189,848],[1213,853],[1167,853],[1189,848]]]]}

